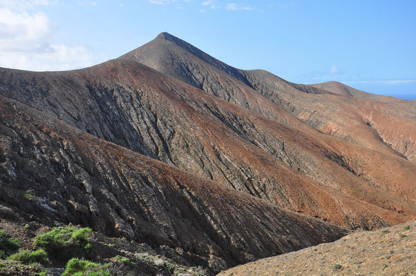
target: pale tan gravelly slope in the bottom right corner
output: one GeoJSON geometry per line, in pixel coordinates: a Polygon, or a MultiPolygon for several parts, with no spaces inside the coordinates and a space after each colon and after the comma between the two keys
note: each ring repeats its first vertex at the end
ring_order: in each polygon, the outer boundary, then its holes
{"type": "Polygon", "coordinates": [[[236,266],[220,276],[414,275],[416,223],[357,232],[337,242],[236,266]]]}

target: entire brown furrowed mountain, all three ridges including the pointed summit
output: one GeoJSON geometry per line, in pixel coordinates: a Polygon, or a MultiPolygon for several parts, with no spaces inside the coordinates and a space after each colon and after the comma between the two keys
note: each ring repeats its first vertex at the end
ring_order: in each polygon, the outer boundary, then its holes
{"type": "Polygon", "coordinates": [[[212,271],[414,218],[416,104],[337,89],[166,33],[82,70],[0,68],[0,201],[212,271]]]}

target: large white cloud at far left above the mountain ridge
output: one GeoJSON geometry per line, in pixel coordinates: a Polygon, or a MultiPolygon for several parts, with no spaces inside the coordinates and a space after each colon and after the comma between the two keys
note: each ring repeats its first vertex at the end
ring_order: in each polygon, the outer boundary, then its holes
{"type": "MultiPolygon", "coordinates": [[[[50,1],[31,1],[38,5],[50,1]]],[[[50,43],[53,30],[43,12],[0,8],[0,66],[24,70],[68,70],[99,60],[83,46],[50,43]]]]}

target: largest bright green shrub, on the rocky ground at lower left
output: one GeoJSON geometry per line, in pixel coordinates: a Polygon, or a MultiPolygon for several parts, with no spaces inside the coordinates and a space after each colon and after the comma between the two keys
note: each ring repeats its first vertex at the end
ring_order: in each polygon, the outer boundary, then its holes
{"type": "Polygon", "coordinates": [[[34,242],[50,255],[66,261],[71,257],[91,255],[92,246],[89,242],[91,233],[90,228],[57,227],[48,233],[37,235],[34,242]]]}

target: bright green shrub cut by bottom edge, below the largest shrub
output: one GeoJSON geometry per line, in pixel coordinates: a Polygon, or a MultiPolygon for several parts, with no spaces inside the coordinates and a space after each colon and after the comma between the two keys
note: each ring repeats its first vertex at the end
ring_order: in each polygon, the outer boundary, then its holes
{"type": "Polygon", "coordinates": [[[111,276],[107,265],[100,265],[84,259],[73,258],[68,261],[62,276],[111,276]]]}

